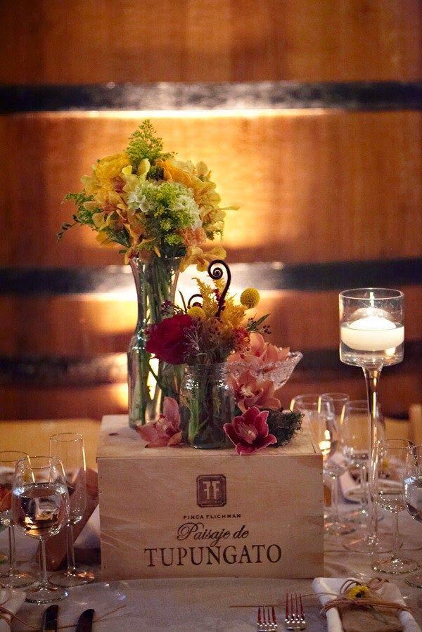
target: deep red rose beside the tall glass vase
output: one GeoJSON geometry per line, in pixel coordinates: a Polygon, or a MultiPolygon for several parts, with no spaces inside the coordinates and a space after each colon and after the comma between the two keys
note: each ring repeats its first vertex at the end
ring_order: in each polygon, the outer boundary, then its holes
{"type": "Polygon", "coordinates": [[[176,314],[153,325],[146,343],[146,350],[169,364],[183,364],[186,354],[185,333],[192,322],[191,316],[176,314]]]}

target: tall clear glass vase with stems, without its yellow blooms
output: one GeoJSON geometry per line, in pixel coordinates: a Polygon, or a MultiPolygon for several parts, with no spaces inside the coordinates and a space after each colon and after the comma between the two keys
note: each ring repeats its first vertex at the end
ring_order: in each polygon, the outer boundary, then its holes
{"type": "Polygon", "coordinates": [[[129,426],[136,428],[160,415],[162,399],[179,393],[181,367],[155,360],[146,351],[146,327],[165,317],[161,306],[174,301],[181,258],[152,257],[130,260],[134,275],[138,318],[127,352],[129,426]]]}

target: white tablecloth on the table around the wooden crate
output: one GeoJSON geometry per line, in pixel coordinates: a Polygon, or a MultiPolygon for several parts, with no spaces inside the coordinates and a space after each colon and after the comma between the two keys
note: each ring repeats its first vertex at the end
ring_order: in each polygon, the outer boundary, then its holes
{"type": "MultiPolygon", "coordinates": [[[[381,522],[388,528],[390,516],[381,522]]],[[[422,526],[407,513],[400,515],[407,557],[422,564],[422,526]]],[[[34,548],[30,538],[17,534],[18,559],[32,558],[34,548]],[[31,547],[32,545],[32,547],[31,547]]],[[[5,534],[0,535],[0,548],[6,548],[5,534]]],[[[99,569],[98,569],[99,572],[99,569]]],[[[326,541],[326,576],[374,576],[368,555],[351,553],[343,548],[341,539],[326,541]]],[[[407,605],[414,607],[415,618],[422,626],[422,589],[411,588],[406,576],[388,576],[397,583],[407,605]]],[[[94,607],[96,618],[108,614],[94,624],[94,632],[142,632],[151,630],[242,632],[256,629],[257,605],[278,604],[280,622],[283,619],[286,591],[300,591],[304,597],[307,629],[326,632],[326,619],[319,614],[319,602],[312,593],[312,579],[156,579],[93,583],[70,590],[70,597],[60,601],[59,625],[75,625],[77,617],[87,607],[94,607]],[[240,607],[239,607],[240,606],[240,607]]],[[[20,616],[37,626],[45,606],[24,604],[20,616]]],[[[283,629],[283,626],[279,626],[283,629]]],[[[30,628],[17,621],[13,631],[30,628]]],[[[69,628],[72,629],[72,628],[69,628]]]]}

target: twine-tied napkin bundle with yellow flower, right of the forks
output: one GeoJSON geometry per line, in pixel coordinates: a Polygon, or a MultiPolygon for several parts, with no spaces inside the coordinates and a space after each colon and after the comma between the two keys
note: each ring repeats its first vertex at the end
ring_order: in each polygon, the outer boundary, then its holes
{"type": "Polygon", "coordinates": [[[394,583],[368,582],[370,595],[350,598],[362,581],[316,577],[312,583],[326,612],[328,632],[421,632],[394,583]],[[400,609],[400,606],[404,609],[400,609]]]}

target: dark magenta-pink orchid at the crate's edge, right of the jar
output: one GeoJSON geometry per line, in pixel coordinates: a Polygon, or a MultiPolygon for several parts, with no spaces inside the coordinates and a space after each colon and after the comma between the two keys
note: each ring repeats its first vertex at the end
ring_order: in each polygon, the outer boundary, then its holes
{"type": "Polygon", "coordinates": [[[224,432],[236,446],[238,454],[252,454],[277,442],[274,434],[269,434],[268,411],[260,411],[252,406],[248,411],[224,424],[224,432]]]}

